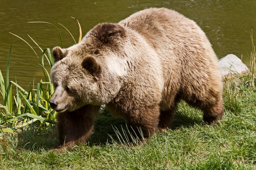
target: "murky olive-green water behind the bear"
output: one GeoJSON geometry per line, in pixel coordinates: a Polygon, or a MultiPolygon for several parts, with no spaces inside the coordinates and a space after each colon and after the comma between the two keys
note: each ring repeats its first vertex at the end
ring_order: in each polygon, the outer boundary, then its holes
{"type": "MultiPolygon", "coordinates": [[[[58,32],[50,24],[27,23],[45,21],[61,29],[64,47],[74,44],[71,36],[61,25],[67,27],[76,40],[79,36],[76,17],[83,35],[99,22],[119,22],[130,14],[148,7],[174,9],[195,20],[205,31],[218,57],[233,53],[243,55],[249,65],[252,49],[250,31],[256,26],[255,0],[0,0],[0,69],[5,73],[11,43],[11,80],[26,87],[43,78],[38,58],[19,35],[32,45],[39,57],[41,52],[29,39],[29,34],[42,48],[61,46],[58,32]]],[[[254,30],[256,32],[256,30],[254,30]]],[[[256,36],[256,34],[255,34],[256,36]]]]}

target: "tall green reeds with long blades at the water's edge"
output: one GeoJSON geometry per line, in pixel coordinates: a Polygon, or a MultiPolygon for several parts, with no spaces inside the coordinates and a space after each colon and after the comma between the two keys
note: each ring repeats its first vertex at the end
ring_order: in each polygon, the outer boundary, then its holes
{"type": "MultiPolygon", "coordinates": [[[[74,19],[76,20],[76,18],[74,19]]],[[[79,21],[76,21],[79,24],[79,21]]],[[[59,33],[61,45],[63,46],[61,32],[56,25],[49,22],[29,23],[46,23],[53,25],[59,33]]],[[[63,26],[62,24],[60,25],[63,26]]],[[[70,33],[70,31],[65,26],[63,27],[70,33]]],[[[81,33],[81,26],[79,24],[79,42],[81,41],[81,33]]],[[[54,86],[45,65],[45,60],[47,61],[47,66],[52,67],[54,64],[51,50],[49,48],[43,50],[38,45],[38,43],[28,35],[28,37],[42,52],[41,57],[39,57],[40,55],[36,53],[35,49],[25,39],[14,33],[11,34],[24,41],[27,45],[29,45],[32,51],[34,51],[35,55],[38,57],[39,65],[43,70],[44,80],[41,79],[40,82],[36,85],[33,82],[33,84],[29,84],[26,89],[22,88],[14,81],[9,81],[9,66],[12,48],[11,45],[7,61],[6,78],[4,78],[0,70],[0,93],[4,101],[3,104],[0,104],[0,132],[17,132],[31,124],[36,125],[39,128],[48,128],[49,126],[55,124],[57,114],[49,106],[49,99],[54,93],[54,86]],[[12,96],[14,93],[13,85],[16,86],[16,92],[14,96],[12,96]]],[[[76,43],[73,35],[71,33],[70,35],[76,43]]]]}

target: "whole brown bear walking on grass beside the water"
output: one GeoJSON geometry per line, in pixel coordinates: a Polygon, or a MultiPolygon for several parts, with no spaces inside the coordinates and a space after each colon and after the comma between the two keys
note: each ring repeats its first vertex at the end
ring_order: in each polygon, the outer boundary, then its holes
{"type": "Polygon", "coordinates": [[[171,125],[180,100],[201,109],[209,124],[222,118],[216,54],[200,27],[176,11],[150,8],[99,24],[79,44],[52,54],[49,102],[58,112],[61,147],[87,141],[104,104],[145,138],[171,125]]]}

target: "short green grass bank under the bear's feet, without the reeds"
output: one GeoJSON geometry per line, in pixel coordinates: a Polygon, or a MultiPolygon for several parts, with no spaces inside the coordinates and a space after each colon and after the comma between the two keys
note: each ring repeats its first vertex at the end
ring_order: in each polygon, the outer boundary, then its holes
{"type": "Polygon", "coordinates": [[[84,170],[253,170],[256,169],[256,95],[243,82],[225,88],[225,114],[205,125],[202,113],[181,103],[170,130],[154,135],[141,147],[120,145],[125,122],[104,112],[95,122],[89,144],[72,152],[53,152],[56,129],[29,126],[0,140],[1,169],[84,170]],[[113,128],[114,127],[114,128],[113,128]],[[115,129],[115,130],[113,130],[115,129]],[[109,136],[109,135],[110,136],[109,136]]]}

